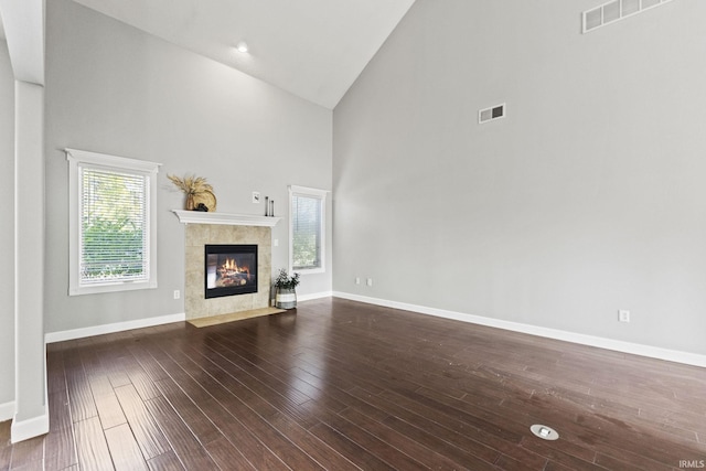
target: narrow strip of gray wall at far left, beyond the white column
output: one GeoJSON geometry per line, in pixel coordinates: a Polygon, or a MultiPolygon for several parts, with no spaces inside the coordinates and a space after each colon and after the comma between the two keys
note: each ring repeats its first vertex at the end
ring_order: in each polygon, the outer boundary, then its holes
{"type": "MultiPolygon", "coordinates": [[[[6,214],[14,206],[14,77],[8,44],[0,40],[0,201],[6,214]]],[[[14,224],[0,226],[0,405],[14,400],[14,224]]]]}

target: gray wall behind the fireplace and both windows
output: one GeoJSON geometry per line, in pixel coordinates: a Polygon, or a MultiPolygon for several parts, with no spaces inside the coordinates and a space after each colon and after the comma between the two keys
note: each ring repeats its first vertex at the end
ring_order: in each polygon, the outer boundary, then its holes
{"type": "MultiPolygon", "coordinates": [[[[183,196],[167,173],[207,178],[218,212],[264,214],[252,191],[284,215],[287,185],[331,188],[331,110],[145,34],[68,0],[47,2],[46,332],[184,312],[183,196]],[[67,163],[64,148],[163,163],[158,193],[156,290],[67,296],[67,163]]],[[[287,266],[288,222],[272,265],[287,266]]],[[[330,237],[329,237],[330,239],[330,237]]],[[[331,271],[301,295],[331,290],[331,271]]]]}

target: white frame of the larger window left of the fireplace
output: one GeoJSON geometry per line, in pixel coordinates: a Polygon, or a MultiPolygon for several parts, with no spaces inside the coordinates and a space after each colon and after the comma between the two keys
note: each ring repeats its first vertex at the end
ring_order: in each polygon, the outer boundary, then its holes
{"type": "Polygon", "coordinates": [[[68,160],[68,295],[132,291],[157,288],[157,173],[161,163],[125,157],[64,149],[68,160]],[[85,285],[81,282],[83,169],[139,174],[147,178],[145,199],[147,213],[146,251],[148,278],[141,281],[119,280],[85,285]]]}

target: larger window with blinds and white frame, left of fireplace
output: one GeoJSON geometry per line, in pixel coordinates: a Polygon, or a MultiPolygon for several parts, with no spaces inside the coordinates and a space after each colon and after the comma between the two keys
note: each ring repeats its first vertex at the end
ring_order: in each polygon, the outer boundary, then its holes
{"type": "Polygon", "coordinates": [[[158,164],[67,149],[69,293],[156,288],[158,164]]]}

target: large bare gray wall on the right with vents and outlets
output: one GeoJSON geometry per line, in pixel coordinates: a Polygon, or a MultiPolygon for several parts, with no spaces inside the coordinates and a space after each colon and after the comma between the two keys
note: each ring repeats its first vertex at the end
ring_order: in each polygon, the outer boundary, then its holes
{"type": "Polygon", "coordinates": [[[417,0],[334,110],[335,291],[706,353],[706,2],[595,4],[417,0]]]}

